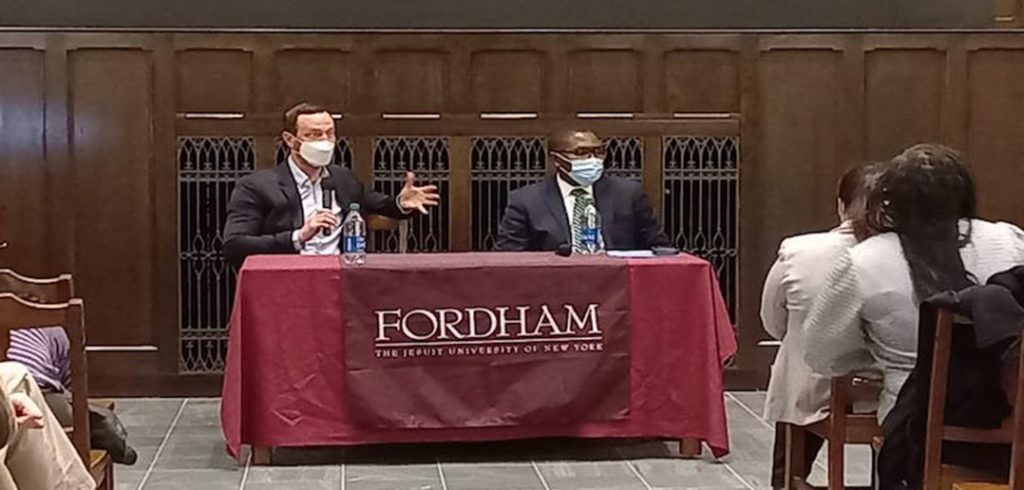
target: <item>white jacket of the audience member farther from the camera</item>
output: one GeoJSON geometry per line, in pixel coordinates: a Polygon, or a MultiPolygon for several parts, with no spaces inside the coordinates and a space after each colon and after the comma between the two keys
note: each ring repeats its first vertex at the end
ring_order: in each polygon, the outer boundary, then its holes
{"type": "Polygon", "coordinates": [[[761,296],[764,329],[781,341],[765,400],[764,416],[770,422],[808,426],[828,416],[831,382],[815,374],[804,360],[803,324],[836,260],[856,243],[853,225],[845,222],[831,231],[792,236],[779,244],[761,296]]]}

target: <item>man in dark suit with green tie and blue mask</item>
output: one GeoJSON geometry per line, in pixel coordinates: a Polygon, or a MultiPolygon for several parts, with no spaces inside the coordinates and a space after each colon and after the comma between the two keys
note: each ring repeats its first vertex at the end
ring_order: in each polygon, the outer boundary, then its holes
{"type": "Polygon", "coordinates": [[[555,176],[515,190],[498,228],[496,248],[509,252],[579,252],[583,210],[593,204],[601,216],[606,250],[671,246],[660,231],[643,187],[603,175],[604,144],[591,131],[561,130],[548,137],[555,176]]]}

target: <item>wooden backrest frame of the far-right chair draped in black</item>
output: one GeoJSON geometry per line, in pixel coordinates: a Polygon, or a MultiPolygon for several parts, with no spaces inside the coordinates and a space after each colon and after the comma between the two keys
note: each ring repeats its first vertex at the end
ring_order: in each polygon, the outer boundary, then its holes
{"type": "MultiPolygon", "coordinates": [[[[949,358],[952,351],[952,337],[955,314],[946,309],[939,309],[936,315],[935,340],[931,352],[931,380],[928,391],[928,421],[925,441],[924,487],[939,488],[942,484],[942,442],[950,437],[952,431],[945,425],[946,393],[949,383],[949,358]]],[[[1024,328],[1024,325],[1021,325],[1024,328]]],[[[919,361],[927,359],[927,353],[919,353],[919,361]]],[[[1024,343],[1021,343],[1021,358],[1024,359],[1024,343]]],[[[1017,396],[1014,400],[1014,414],[1011,427],[1013,431],[1010,441],[1013,443],[1013,459],[1011,467],[1011,485],[1013,490],[1024,490],[1024,362],[1021,362],[1017,373],[1017,396]],[[1017,486],[1015,481],[1019,482],[1017,486]]],[[[971,430],[955,428],[957,440],[976,439],[976,442],[1004,442],[1004,430],[971,430]],[[972,433],[978,434],[970,437],[972,433]],[[968,436],[968,437],[965,437],[968,436]]]]}

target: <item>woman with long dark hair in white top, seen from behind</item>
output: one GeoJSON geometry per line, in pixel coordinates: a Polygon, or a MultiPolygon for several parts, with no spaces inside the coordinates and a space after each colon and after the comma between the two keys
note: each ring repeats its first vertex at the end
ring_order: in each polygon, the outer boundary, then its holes
{"type": "Polygon", "coordinates": [[[974,176],[956,151],[908,148],[868,196],[867,221],[880,234],[840,255],[811,308],[807,364],[826,376],[880,366],[880,424],[916,361],[920,304],[1024,264],[1024,231],[975,213],[974,176]]]}

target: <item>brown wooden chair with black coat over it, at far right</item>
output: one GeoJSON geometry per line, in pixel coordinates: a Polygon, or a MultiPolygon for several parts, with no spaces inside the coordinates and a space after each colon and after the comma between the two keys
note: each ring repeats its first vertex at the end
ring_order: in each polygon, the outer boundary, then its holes
{"type": "MultiPolygon", "coordinates": [[[[946,388],[949,381],[949,356],[952,344],[954,314],[940,310],[935,328],[931,384],[928,395],[928,426],[925,443],[924,488],[986,489],[1009,488],[1024,490],[1024,362],[1017,374],[1017,395],[1013,416],[998,429],[968,429],[945,424],[946,388]],[[991,476],[964,467],[942,464],[942,443],[958,441],[987,444],[1013,444],[1009,486],[991,476]],[[968,483],[975,482],[975,483],[968,483]]],[[[1024,326],[1024,325],[1022,325],[1024,326]]],[[[1021,346],[1024,356],[1024,344],[1021,346]]]]}

